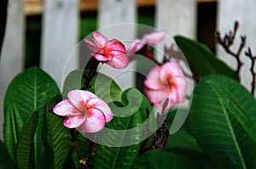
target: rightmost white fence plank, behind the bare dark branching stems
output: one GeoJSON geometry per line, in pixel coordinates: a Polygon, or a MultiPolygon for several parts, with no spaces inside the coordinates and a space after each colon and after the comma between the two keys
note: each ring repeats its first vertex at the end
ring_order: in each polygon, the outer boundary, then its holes
{"type": "MultiPolygon", "coordinates": [[[[239,48],[241,39],[240,36],[247,36],[247,47],[252,48],[252,53],[256,54],[256,41],[255,41],[255,30],[256,23],[253,21],[256,18],[256,1],[247,0],[219,0],[218,1],[218,31],[224,35],[233,29],[235,20],[238,20],[240,27],[237,31],[236,41],[232,49],[235,51],[239,48]],[[248,14],[249,12],[249,14],[248,14]]],[[[250,60],[244,56],[244,52],[247,48],[241,52],[242,62],[245,63],[241,69],[241,83],[250,90],[252,75],[250,74],[250,60]]],[[[236,69],[236,59],[224,52],[223,48],[218,46],[218,56],[220,59],[224,59],[228,65],[236,69]]],[[[255,94],[254,94],[255,95],[255,94]]],[[[255,95],[256,96],[256,95],[255,95]]]]}

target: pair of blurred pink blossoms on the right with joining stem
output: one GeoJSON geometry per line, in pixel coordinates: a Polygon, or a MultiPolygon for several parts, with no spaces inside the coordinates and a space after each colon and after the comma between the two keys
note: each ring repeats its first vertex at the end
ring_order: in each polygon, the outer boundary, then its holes
{"type": "Polygon", "coordinates": [[[183,70],[177,61],[166,61],[158,63],[154,55],[147,47],[163,41],[164,32],[154,31],[145,34],[142,39],[136,39],[131,43],[128,54],[138,54],[141,51],[149,59],[157,64],[152,68],[144,82],[144,93],[151,104],[159,110],[162,105],[169,100],[166,110],[171,110],[176,104],[183,103],[185,99],[186,82],[183,70]]]}

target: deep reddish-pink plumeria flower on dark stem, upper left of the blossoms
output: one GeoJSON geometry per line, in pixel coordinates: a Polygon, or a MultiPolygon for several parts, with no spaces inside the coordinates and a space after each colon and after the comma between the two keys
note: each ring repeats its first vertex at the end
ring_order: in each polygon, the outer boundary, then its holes
{"type": "Polygon", "coordinates": [[[91,55],[102,63],[106,63],[113,68],[125,68],[129,64],[129,60],[126,56],[125,45],[119,40],[108,40],[102,33],[92,32],[93,42],[88,39],[84,39],[85,44],[94,53],[91,55]]]}

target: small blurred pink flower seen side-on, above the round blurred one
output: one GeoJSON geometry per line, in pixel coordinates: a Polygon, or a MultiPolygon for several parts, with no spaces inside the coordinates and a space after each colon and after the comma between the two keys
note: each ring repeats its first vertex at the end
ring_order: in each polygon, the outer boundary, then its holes
{"type": "Polygon", "coordinates": [[[161,42],[165,37],[163,31],[153,31],[149,34],[145,34],[142,39],[136,39],[131,43],[131,47],[128,49],[128,54],[136,54],[145,45],[153,45],[161,42]]]}

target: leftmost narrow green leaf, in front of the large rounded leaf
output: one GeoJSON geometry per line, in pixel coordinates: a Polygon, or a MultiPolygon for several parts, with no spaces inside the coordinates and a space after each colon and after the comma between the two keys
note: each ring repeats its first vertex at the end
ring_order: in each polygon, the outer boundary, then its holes
{"type": "Polygon", "coordinates": [[[12,161],[16,161],[16,144],[18,143],[22,124],[23,121],[18,108],[15,104],[10,104],[4,117],[3,135],[12,161]]]}

